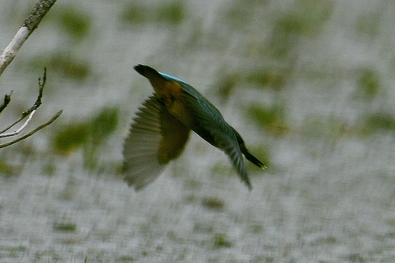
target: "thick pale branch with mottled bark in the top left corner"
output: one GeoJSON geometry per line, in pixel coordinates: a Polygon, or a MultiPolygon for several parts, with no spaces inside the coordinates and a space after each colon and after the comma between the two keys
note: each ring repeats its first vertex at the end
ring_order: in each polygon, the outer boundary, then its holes
{"type": "Polygon", "coordinates": [[[56,0],[39,0],[35,8],[26,18],[22,27],[18,30],[15,37],[12,38],[8,46],[3,50],[0,55],[0,75],[3,73],[5,68],[14,59],[16,53],[22,44],[29,38],[30,34],[39,26],[41,19],[49,11],[51,6],[56,0]]]}

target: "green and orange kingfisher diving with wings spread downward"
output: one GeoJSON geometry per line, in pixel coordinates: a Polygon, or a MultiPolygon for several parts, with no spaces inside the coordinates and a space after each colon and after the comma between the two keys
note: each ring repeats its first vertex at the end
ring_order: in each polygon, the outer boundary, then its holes
{"type": "Polygon", "coordinates": [[[229,156],[251,190],[243,155],[256,166],[266,167],[248,151],[240,134],[217,108],[177,77],[142,64],[134,69],[148,78],[155,92],[138,109],[124,142],[123,172],[127,184],[139,190],[153,182],[166,164],[181,154],[192,130],[229,156]]]}

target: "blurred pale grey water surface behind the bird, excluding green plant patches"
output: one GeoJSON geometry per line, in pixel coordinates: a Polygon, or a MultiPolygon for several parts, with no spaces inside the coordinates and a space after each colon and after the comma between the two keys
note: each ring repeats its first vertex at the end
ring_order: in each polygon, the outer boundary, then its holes
{"type": "MultiPolygon", "coordinates": [[[[159,10],[170,1],[144,2],[159,10]]],[[[313,2],[186,0],[184,20],[170,25],[122,22],[129,1],[58,0],[1,76],[0,95],[13,90],[1,125],[36,100],[42,67],[32,64],[39,58],[69,53],[86,61],[90,74],[75,80],[48,67],[44,104],[30,127],[60,109],[63,114],[0,152],[21,169],[0,176],[0,262],[83,262],[85,255],[89,262],[394,262],[394,130],[361,136],[357,127],[371,113],[395,113],[395,4],[329,2],[322,26],[291,38],[291,54],[271,60],[265,52],[278,19],[303,15],[299,9],[307,10],[306,19],[319,16],[309,9],[313,2]],[[57,16],[70,6],[90,19],[80,41],[58,25],[57,16]],[[140,192],[127,187],[115,168],[122,140],[132,113],[152,92],[133,70],[138,63],[193,85],[247,145],[268,151],[267,171],[248,166],[252,191],[225,154],[196,135],[152,185],[140,192]],[[229,100],[217,95],[219,73],[245,75],[269,66],[290,70],[279,91],[240,82],[229,100]],[[357,94],[358,72],[365,68],[380,83],[368,99],[357,94]],[[288,131],[276,136],[256,125],[245,111],[252,102],[285,106],[288,131]],[[48,150],[54,126],[106,105],[121,113],[100,153],[107,169],[86,171],[81,150],[66,156],[48,150]],[[48,164],[56,168],[52,175],[43,173],[48,164]],[[223,208],[209,209],[206,198],[223,208]],[[76,228],[59,231],[58,224],[76,228]],[[218,237],[229,246],[216,245],[218,237]]],[[[2,48],[35,3],[0,1],[2,48]]]]}

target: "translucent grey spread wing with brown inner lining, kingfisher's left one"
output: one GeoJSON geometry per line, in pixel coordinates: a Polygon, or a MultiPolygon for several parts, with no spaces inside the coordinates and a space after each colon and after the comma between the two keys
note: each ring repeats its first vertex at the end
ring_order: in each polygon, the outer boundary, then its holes
{"type": "Polygon", "coordinates": [[[158,98],[150,97],[139,109],[124,143],[124,180],[136,190],[154,181],[182,152],[189,133],[158,98]]]}

